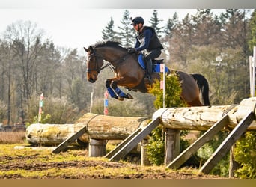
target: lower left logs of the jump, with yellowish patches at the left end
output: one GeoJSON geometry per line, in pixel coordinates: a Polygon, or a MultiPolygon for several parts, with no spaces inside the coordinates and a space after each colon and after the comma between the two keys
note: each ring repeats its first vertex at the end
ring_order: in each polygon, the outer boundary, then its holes
{"type": "Polygon", "coordinates": [[[139,127],[147,126],[146,117],[112,117],[98,114],[85,114],[74,124],[34,123],[26,129],[29,144],[57,146],[79,131],[83,126],[86,133],[79,140],[124,140],[139,127]]]}

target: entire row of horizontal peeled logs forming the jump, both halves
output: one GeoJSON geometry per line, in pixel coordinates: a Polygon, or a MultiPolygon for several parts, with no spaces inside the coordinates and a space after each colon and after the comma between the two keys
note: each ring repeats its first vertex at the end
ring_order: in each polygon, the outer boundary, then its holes
{"type": "MultiPolygon", "coordinates": [[[[189,108],[161,108],[153,114],[160,117],[165,129],[202,130],[210,129],[225,114],[228,114],[227,129],[234,129],[240,120],[253,111],[255,114],[256,97],[243,99],[239,105],[201,106],[189,108]]],[[[86,127],[81,142],[95,140],[124,140],[139,127],[147,126],[146,117],[113,117],[98,114],[85,114],[74,124],[32,124],[26,129],[29,144],[58,145],[70,135],[86,127]]],[[[248,130],[256,130],[255,120],[248,130]]]]}

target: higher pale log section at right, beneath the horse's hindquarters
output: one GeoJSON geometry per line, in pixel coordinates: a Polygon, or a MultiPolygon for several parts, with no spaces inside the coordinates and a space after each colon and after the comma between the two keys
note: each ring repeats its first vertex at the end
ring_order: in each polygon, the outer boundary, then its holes
{"type": "MultiPolygon", "coordinates": [[[[170,129],[207,130],[228,113],[227,128],[235,126],[246,116],[248,111],[255,114],[256,98],[243,99],[240,105],[201,106],[189,108],[160,108],[153,114],[153,119],[160,117],[161,124],[170,129]]],[[[256,130],[255,120],[248,130],[256,130]]]]}

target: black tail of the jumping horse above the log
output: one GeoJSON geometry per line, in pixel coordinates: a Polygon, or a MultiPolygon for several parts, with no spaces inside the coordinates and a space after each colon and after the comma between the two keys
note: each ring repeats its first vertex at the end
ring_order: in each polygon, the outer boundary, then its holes
{"type": "Polygon", "coordinates": [[[202,93],[202,97],[204,100],[204,105],[210,105],[210,99],[209,99],[209,84],[207,82],[207,79],[205,79],[204,76],[201,74],[191,74],[195,81],[198,83],[199,90],[202,93]]]}

